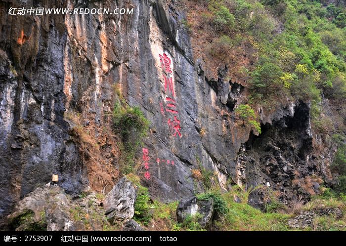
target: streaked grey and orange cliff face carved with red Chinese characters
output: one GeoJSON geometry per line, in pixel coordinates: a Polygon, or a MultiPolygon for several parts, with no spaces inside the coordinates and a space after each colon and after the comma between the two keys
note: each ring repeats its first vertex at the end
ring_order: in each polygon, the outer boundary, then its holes
{"type": "MultiPolygon", "coordinates": [[[[287,102],[266,115],[258,109],[262,134],[251,133],[234,114],[246,83],[227,79],[227,65],[218,78],[209,76],[207,65],[193,56],[178,1],[13,0],[1,1],[0,8],[7,13],[23,4],[133,8],[133,14],[1,14],[1,223],[52,173],[73,196],[112,188],[119,146],[110,113],[119,97],[151,122],[143,146],[150,178],[140,175],[153,198],[168,202],[203,191],[191,174],[199,168],[211,170],[224,189],[228,178],[245,187],[268,182],[287,204],[317,193],[322,179],[330,181],[333,149],[321,150],[323,159],[314,152],[308,104],[287,102]],[[96,150],[79,141],[71,115],[96,150]]],[[[254,192],[250,203],[262,198],[254,192]]]]}

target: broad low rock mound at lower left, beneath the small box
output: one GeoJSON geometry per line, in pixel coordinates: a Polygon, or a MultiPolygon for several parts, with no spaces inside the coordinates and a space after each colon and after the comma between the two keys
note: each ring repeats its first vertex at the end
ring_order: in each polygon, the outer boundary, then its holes
{"type": "MultiPolygon", "coordinates": [[[[112,227],[94,193],[71,200],[58,186],[37,188],[8,216],[9,230],[102,231],[112,227]]],[[[137,228],[138,229],[138,228],[137,228]]]]}

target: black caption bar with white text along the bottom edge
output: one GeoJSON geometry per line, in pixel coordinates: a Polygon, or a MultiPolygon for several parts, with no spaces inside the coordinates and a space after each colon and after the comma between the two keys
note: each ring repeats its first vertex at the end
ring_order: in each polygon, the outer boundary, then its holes
{"type": "Polygon", "coordinates": [[[265,245],[284,242],[343,240],[345,232],[0,232],[0,245],[164,245],[164,244],[235,244],[257,241],[265,245]],[[298,241],[297,241],[298,240],[298,241]]]}

